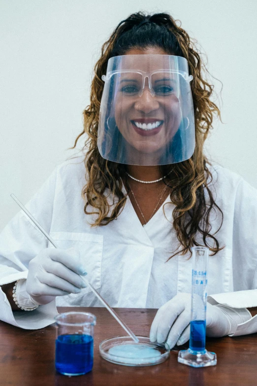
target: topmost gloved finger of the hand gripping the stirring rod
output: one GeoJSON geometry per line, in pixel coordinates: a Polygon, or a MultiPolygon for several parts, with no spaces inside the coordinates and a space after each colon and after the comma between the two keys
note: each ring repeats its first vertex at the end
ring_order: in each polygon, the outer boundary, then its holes
{"type": "Polygon", "coordinates": [[[86,268],[84,267],[79,250],[75,248],[69,249],[52,249],[49,248],[48,256],[51,260],[58,261],[64,264],[71,271],[78,275],[86,275],[86,268]]]}

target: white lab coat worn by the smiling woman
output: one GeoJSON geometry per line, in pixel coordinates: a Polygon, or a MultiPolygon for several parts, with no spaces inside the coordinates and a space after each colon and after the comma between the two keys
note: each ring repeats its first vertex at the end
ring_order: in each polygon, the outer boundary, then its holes
{"type": "MultiPolygon", "coordinates": [[[[81,196],[86,182],[83,158],[58,166],[27,208],[60,248],[75,246],[85,261],[92,285],[112,307],[160,308],[179,292],[191,292],[192,259],[177,255],[169,197],[143,227],[129,201],[116,220],[91,227],[81,196]],[[169,220],[169,221],[168,221],[169,220]]],[[[209,257],[208,301],[233,308],[257,306],[257,191],[240,176],[215,166],[212,190],[224,213],[216,234],[223,250],[209,257]],[[216,193],[215,193],[216,192],[216,193]],[[233,292],[235,291],[235,292],[233,292]]],[[[220,213],[211,215],[212,232],[220,213]]],[[[199,241],[200,241],[199,237],[199,241]]],[[[20,211],[0,235],[0,285],[26,279],[29,261],[42,248],[53,247],[20,211]]],[[[60,296],[33,312],[12,312],[0,290],[0,319],[22,328],[53,322],[56,306],[102,306],[89,288],[60,296]]],[[[257,317],[247,310],[235,335],[257,332],[257,317]],[[245,316],[247,317],[245,318],[245,316]]]]}

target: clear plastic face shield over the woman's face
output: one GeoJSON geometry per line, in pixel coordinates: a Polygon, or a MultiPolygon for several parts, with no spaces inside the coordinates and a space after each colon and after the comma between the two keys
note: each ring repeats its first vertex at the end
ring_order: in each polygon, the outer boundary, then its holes
{"type": "Polygon", "coordinates": [[[102,79],[97,146],[103,158],[143,166],[193,155],[193,77],[185,58],[115,56],[102,79]]]}

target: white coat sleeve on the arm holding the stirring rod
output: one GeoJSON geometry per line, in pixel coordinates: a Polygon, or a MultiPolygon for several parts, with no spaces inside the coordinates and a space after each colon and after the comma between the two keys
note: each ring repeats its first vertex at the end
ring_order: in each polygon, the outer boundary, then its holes
{"type": "MultiPolygon", "coordinates": [[[[26,205],[47,233],[52,221],[57,170],[26,205]]],[[[30,260],[47,245],[47,239],[31,219],[23,211],[18,212],[0,234],[0,285],[26,279],[30,260]]],[[[0,320],[21,328],[37,329],[53,323],[56,315],[55,301],[30,312],[12,311],[0,287],[0,320]]]]}

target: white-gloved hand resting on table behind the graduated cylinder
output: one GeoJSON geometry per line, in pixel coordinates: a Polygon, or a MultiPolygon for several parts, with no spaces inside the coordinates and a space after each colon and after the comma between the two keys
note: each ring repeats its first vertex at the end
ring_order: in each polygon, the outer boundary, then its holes
{"type": "MultiPolygon", "coordinates": [[[[239,309],[240,310],[240,309],[239,309]]],[[[158,310],[150,330],[151,342],[166,341],[170,348],[183,345],[190,338],[191,294],[179,293],[158,310]]],[[[237,323],[245,320],[236,309],[211,305],[206,307],[206,336],[222,337],[233,334],[237,323]]]]}

